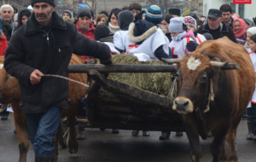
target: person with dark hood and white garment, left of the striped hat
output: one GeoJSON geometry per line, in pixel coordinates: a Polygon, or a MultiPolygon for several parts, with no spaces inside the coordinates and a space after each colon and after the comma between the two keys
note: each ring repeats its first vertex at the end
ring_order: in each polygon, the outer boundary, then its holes
{"type": "Polygon", "coordinates": [[[115,49],[118,49],[120,53],[126,53],[125,43],[128,36],[128,28],[130,23],[133,22],[134,16],[132,11],[121,11],[118,15],[118,23],[120,30],[115,32],[113,36],[115,49]]]}

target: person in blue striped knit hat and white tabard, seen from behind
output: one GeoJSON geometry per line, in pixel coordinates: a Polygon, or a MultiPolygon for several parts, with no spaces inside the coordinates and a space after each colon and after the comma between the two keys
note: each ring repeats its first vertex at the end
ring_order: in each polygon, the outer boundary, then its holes
{"type": "Polygon", "coordinates": [[[145,15],[145,20],[141,19],[137,23],[131,23],[125,44],[126,54],[131,53],[141,62],[170,58],[169,40],[158,28],[162,19],[161,8],[152,5],[145,15]]]}

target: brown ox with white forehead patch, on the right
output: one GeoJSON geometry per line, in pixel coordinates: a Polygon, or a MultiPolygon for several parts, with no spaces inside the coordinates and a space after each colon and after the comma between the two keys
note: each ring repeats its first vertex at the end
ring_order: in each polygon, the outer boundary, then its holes
{"type": "Polygon", "coordinates": [[[246,49],[227,37],[205,41],[181,59],[176,81],[178,92],[172,109],[184,114],[192,161],[202,161],[199,135],[206,139],[212,130],[215,130],[210,145],[213,161],[237,161],[236,127],[255,88],[254,66],[246,49]],[[221,70],[210,61],[238,63],[241,68],[221,70]],[[214,100],[209,99],[210,85],[214,100]],[[210,110],[207,109],[209,100],[210,110]]]}

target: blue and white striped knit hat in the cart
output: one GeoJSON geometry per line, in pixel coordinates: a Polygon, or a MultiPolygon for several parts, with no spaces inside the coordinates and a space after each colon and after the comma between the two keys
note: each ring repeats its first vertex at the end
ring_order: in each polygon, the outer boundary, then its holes
{"type": "Polygon", "coordinates": [[[145,19],[153,22],[161,23],[163,19],[162,9],[157,5],[152,5],[148,8],[145,14],[145,19]]]}

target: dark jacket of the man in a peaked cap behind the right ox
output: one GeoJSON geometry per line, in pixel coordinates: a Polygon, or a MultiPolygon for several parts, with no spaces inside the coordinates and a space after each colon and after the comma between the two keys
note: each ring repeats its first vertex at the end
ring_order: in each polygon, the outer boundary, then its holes
{"type": "Polygon", "coordinates": [[[236,36],[233,32],[233,29],[227,26],[226,23],[224,22],[222,22],[222,24],[223,24],[222,29],[219,26],[219,28],[214,31],[214,30],[211,30],[209,28],[208,23],[206,23],[205,25],[202,25],[200,28],[198,28],[197,32],[199,34],[210,33],[213,36],[214,40],[222,38],[223,36],[227,36],[229,40],[232,40],[233,42],[237,43],[236,36]]]}

